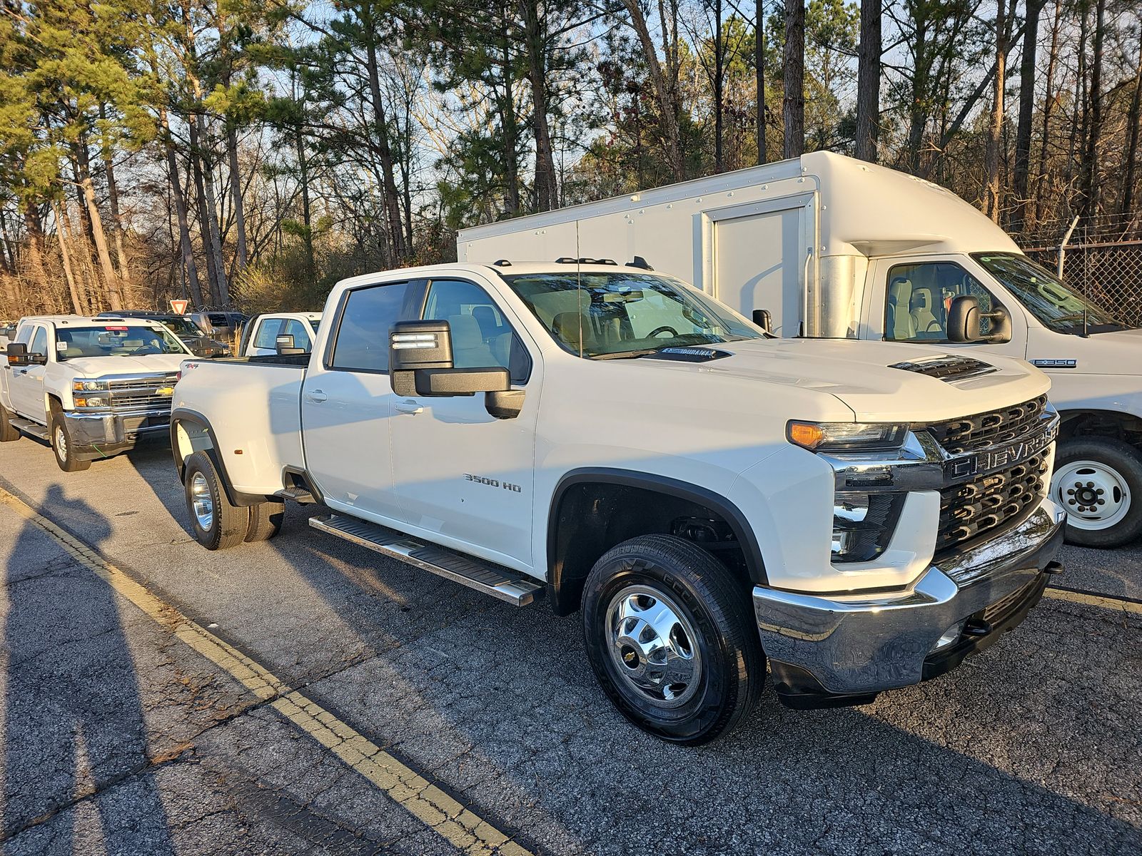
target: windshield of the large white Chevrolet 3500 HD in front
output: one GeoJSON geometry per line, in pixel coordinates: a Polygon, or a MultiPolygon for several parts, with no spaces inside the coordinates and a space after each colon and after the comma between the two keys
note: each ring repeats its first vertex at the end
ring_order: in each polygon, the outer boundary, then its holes
{"type": "Polygon", "coordinates": [[[504,278],[557,342],[587,357],[764,338],[669,276],[569,270],[504,278]]]}

